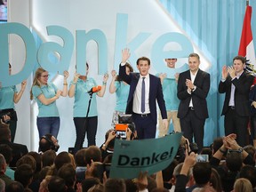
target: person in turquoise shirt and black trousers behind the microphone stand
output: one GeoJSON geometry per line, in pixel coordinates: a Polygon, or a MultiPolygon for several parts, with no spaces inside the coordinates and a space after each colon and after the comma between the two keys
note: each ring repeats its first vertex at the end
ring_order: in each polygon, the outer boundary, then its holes
{"type": "Polygon", "coordinates": [[[86,113],[89,105],[90,94],[89,91],[92,87],[97,86],[97,83],[92,77],[88,77],[89,65],[86,63],[86,76],[80,76],[75,74],[74,80],[69,85],[68,96],[70,98],[75,97],[73,120],[76,126],[76,143],[74,148],[74,154],[80,148],[83,148],[85,134],[87,133],[88,147],[96,145],[96,133],[98,125],[98,112],[96,95],[103,97],[106,90],[108,81],[108,74],[103,77],[103,84],[100,92],[92,94],[91,107],[88,114],[87,122],[86,113]]]}

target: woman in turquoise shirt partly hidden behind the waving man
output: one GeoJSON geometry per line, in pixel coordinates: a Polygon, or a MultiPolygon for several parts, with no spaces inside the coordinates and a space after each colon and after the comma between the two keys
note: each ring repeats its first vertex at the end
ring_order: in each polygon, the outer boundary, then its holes
{"type": "MultiPolygon", "coordinates": [[[[133,72],[130,64],[126,64],[126,74],[133,72]]],[[[119,76],[116,76],[116,70],[112,70],[112,81],[109,86],[109,92],[116,92],[116,108],[112,118],[112,126],[118,124],[118,116],[124,115],[126,110],[127,99],[129,95],[130,85],[126,84],[119,76]]]]}

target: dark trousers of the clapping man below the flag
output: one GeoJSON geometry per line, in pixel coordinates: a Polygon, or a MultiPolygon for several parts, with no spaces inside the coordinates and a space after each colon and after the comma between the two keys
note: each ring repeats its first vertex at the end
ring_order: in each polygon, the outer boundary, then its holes
{"type": "Polygon", "coordinates": [[[238,145],[244,147],[248,145],[248,131],[249,123],[248,116],[238,116],[235,109],[228,109],[228,113],[224,118],[225,135],[236,133],[236,141],[238,145]]]}

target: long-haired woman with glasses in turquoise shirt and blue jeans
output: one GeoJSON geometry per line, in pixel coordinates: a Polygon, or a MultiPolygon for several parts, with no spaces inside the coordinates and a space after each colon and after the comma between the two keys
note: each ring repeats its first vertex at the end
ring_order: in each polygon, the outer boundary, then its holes
{"type": "Polygon", "coordinates": [[[56,100],[60,95],[66,97],[68,93],[68,71],[64,71],[62,91],[58,90],[54,84],[48,83],[48,76],[48,71],[44,68],[37,68],[30,92],[30,99],[33,100],[33,96],[35,97],[39,109],[36,118],[39,138],[45,134],[52,134],[57,138],[60,130],[60,115],[56,100]]]}

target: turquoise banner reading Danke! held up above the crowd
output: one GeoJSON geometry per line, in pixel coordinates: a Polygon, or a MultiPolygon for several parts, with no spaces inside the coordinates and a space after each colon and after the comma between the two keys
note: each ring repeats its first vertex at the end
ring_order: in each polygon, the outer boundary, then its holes
{"type": "Polygon", "coordinates": [[[110,178],[134,179],[140,172],[159,172],[172,163],[181,132],[158,139],[116,140],[110,178]]]}

